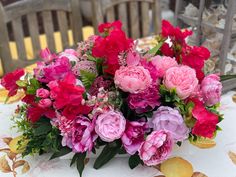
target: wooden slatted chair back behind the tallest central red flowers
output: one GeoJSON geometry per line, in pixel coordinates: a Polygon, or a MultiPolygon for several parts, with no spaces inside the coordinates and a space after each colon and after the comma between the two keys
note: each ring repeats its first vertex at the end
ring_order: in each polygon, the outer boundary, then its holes
{"type": "Polygon", "coordinates": [[[152,27],[154,34],[160,32],[160,0],[93,0],[92,2],[95,30],[100,23],[119,19],[125,32],[134,39],[150,35],[152,27]]]}

